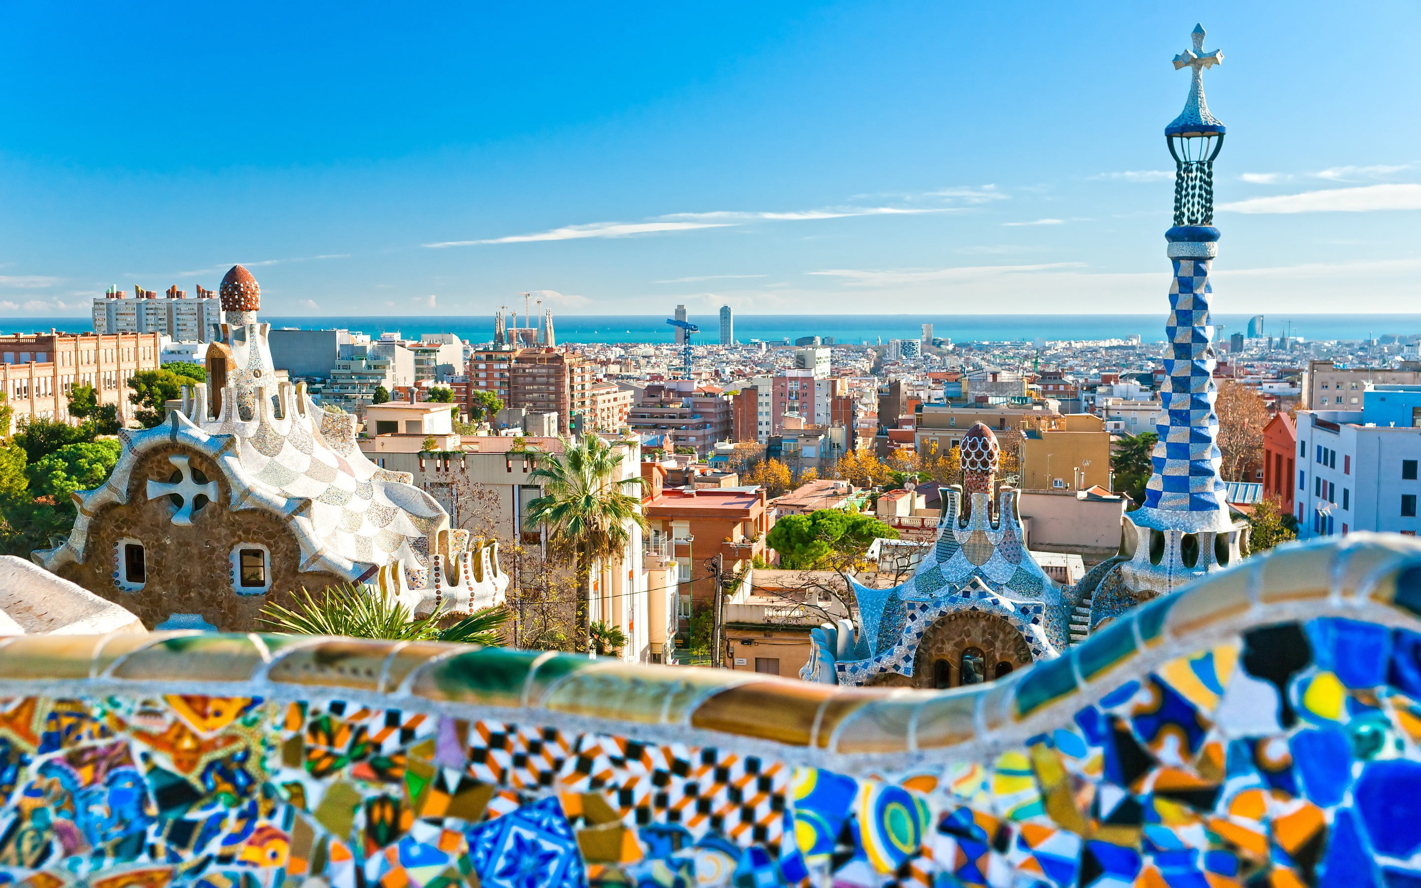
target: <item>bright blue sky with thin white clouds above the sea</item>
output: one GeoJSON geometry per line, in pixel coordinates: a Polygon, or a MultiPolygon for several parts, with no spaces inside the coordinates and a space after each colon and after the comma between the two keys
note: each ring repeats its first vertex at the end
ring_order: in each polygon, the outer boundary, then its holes
{"type": "Polygon", "coordinates": [[[0,313],[1158,311],[1195,21],[1216,310],[1415,311],[1411,0],[11,0],[0,313]]]}

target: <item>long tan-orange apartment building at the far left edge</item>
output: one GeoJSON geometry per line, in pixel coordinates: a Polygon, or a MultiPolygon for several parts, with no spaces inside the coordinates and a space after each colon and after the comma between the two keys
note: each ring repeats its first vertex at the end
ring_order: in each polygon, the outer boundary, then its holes
{"type": "Polygon", "coordinates": [[[156,332],[65,334],[0,337],[0,392],[11,408],[10,428],[26,418],[71,421],[68,394],[92,385],[101,405],[132,415],[128,379],[158,369],[162,344],[156,332]]]}

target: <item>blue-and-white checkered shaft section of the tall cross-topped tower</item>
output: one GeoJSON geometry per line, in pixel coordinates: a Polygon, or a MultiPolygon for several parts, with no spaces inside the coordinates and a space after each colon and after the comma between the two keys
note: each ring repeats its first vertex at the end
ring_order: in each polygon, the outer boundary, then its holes
{"type": "Polygon", "coordinates": [[[1219,418],[1214,412],[1214,325],[1209,323],[1208,259],[1175,259],[1169,287],[1169,320],[1165,334],[1169,357],[1164,359],[1160,392],[1165,421],[1151,457],[1154,473],[1145,484],[1145,506],[1171,511],[1226,509],[1222,456],[1215,439],[1219,418]]]}

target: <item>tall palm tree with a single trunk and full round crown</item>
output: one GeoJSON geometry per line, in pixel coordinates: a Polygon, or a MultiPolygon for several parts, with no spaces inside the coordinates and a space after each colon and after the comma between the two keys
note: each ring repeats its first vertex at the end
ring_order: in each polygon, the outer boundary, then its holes
{"type": "Polygon", "coordinates": [[[544,482],[543,496],[529,502],[524,526],[546,526],[554,544],[577,556],[578,645],[588,639],[593,565],[621,561],[631,546],[631,527],[647,530],[641,514],[641,476],[622,477],[624,453],[597,435],[584,435],[561,455],[549,455],[529,477],[544,482]],[[637,496],[627,493],[634,489],[637,496]]]}

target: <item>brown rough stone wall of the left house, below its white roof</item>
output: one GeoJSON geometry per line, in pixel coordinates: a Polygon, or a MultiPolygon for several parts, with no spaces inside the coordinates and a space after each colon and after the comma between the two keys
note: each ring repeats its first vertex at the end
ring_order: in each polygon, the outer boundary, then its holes
{"type": "Polygon", "coordinates": [[[128,504],[107,506],[94,516],[84,561],[65,564],[58,574],[121,604],[149,629],[173,614],[198,614],[225,632],[263,628],[257,617],[269,601],[291,607],[291,592],[303,587],[320,600],[325,587],[342,583],[334,574],[297,570],[301,551],[283,521],[261,509],[232,511],[230,499],[213,460],[182,445],[155,448],[129,479],[128,504]],[[168,497],[148,499],[148,482],[166,483],[176,470],[169,456],[186,456],[188,465],[219,489],[217,500],[196,510],[189,527],[173,524],[175,507],[168,497]],[[117,581],[118,544],[129,538],[145,550],[148,581],[138,591],[117,581]],[[269,594],[237,594],[233,588],[230,556],[240,543],[266,546],[271,553],[269,594]]]}

